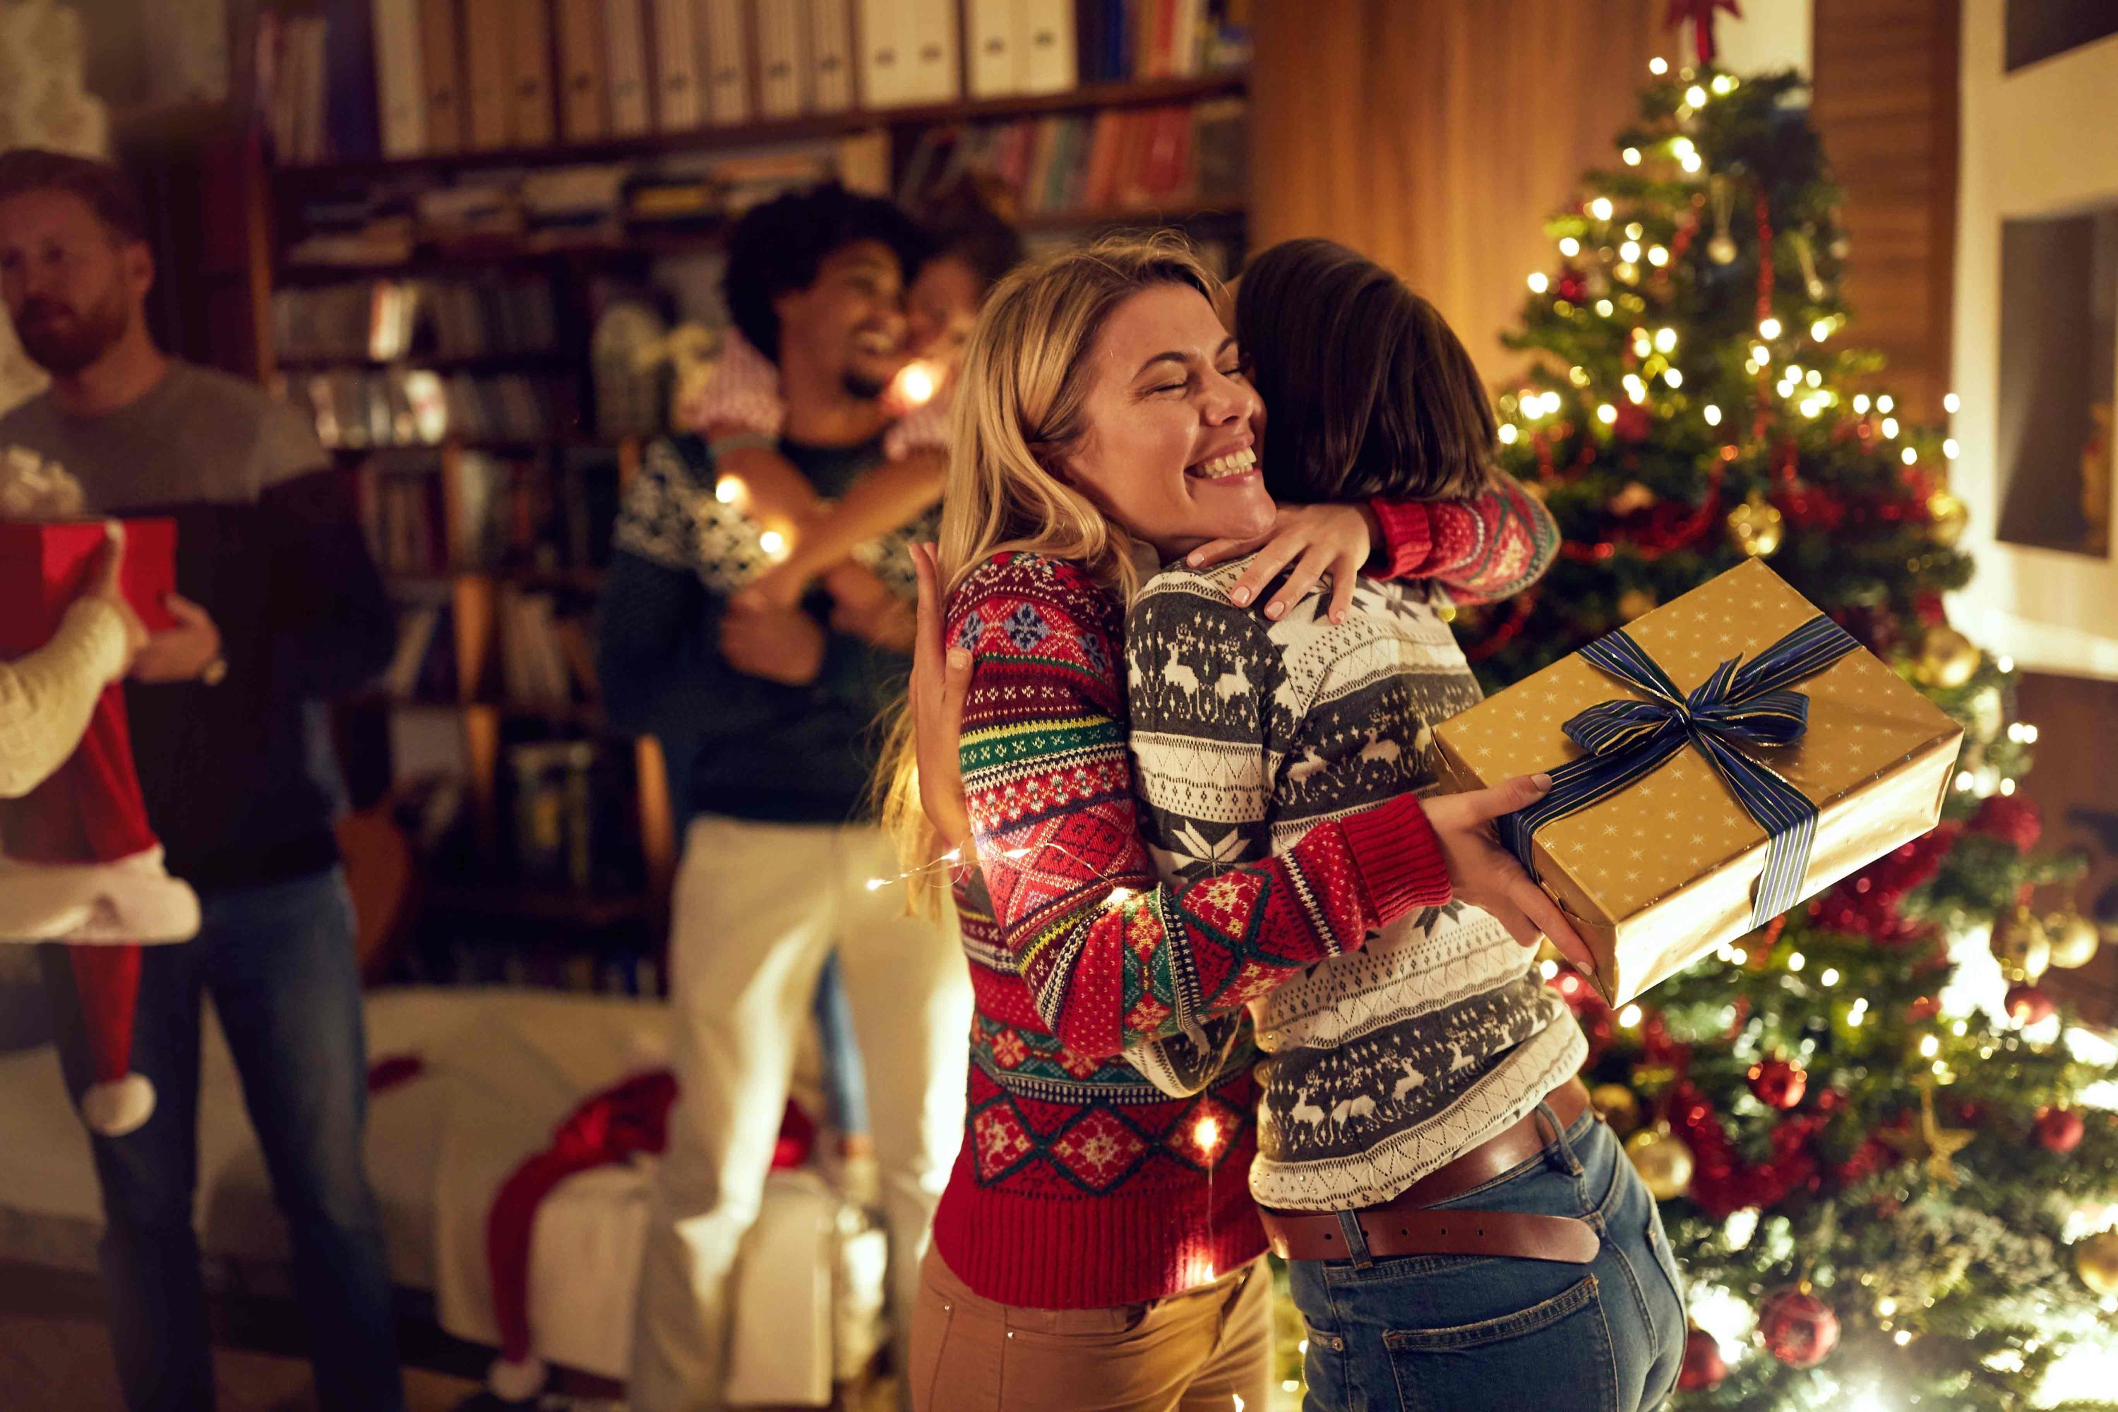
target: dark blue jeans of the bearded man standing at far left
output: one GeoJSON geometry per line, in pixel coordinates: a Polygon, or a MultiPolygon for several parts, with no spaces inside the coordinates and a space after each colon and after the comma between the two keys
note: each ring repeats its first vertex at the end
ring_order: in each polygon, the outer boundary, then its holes
{"type": "MultiPolygon", "coordinates": [[[[354,910],[337,868],[201,898],[199,936],[148,946],[133,1069],[155,1114],[97,1137],[104,1291],[131,1412],[214,1406],[193,1200],[199,1181],[199,997],[210,995],[294,1251],[318,1399],[328,1412],[398,1412],[396,1327],[381,1215],[360,1160],[369,1073],[354,910]]],[[[93,1065],[72,972],[44,946],[66,1084],[93,1065]]]]}

